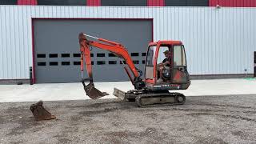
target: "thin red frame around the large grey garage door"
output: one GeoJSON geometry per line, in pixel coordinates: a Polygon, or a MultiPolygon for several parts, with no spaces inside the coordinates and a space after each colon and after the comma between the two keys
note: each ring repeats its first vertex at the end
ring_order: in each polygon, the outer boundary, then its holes
{"type": "Polygon", "coordinates": [[[82,20],[91,20],[91,19],[94,19],[94,20],[138,20],[138,21],[151,21],[151,24],[152,24],[152,27],[151,27],[151,31],[152,31],[152,35],[151,35],[151,42],[154,41],[154,18],[31,18],[31,31],[32,31],[32,81],[33,83],[36,82],[36,78],[35,78],[35,55],[34,55],[34,20],[37,20],[37,19],[53,19],[53,20],[66,20],[66,19],[74,19],[74,20],[77,20],[77,19],[82,19],[82,20]]]}

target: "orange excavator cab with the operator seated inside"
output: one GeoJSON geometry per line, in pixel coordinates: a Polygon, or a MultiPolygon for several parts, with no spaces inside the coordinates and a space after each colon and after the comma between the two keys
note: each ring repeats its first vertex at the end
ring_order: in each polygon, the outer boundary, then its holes
{"type": "Polygon", "coordinates": [[[146,88],[149,90],[186,90],[190,75],[185,48],[180,41],[151,42],[145,66],[146,88]]]}

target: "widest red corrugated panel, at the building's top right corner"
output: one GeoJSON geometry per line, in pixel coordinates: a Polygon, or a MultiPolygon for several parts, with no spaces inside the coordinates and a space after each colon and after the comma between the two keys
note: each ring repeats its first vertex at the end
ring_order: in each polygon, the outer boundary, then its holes
{"type": "Polygon", "coordinates": [[[209,6],[256,7],[255,0],[209,0],[209,6]]]}

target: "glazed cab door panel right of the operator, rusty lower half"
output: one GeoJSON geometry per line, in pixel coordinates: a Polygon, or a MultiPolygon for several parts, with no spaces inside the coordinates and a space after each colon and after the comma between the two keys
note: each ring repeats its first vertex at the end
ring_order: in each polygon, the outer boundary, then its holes
{"type": "Polygon", "coordinates": [[[173,46],[173,67],[172,67],[172,83],[187,83],[189,74],[186,67],[186,54],[183,45],[173,46]]]}

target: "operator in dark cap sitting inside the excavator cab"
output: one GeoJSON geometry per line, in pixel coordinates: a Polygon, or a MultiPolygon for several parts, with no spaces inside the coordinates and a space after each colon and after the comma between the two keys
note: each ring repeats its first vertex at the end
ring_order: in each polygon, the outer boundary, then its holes
{"type": "Polygon", "coordinates": [[[164,66],[170,67],[170,58],[171,58],[171,53],[169,50],[166,50],[163,52],[165,54],[165,59],[162,60],[161,63],[158,63],[158,72],[159,72],[159,78],[157,82],[163,82],[163,77],[162,77],[162,70],[164,69],[164,66]]]}

